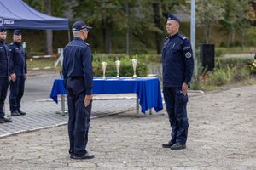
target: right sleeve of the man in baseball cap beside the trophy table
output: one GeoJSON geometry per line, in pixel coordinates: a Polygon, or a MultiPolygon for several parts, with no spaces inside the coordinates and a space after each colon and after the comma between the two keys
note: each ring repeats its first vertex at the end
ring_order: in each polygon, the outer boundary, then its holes
{"type": "Polygon", "coordinates": [[[92,94],[93,88],[93,71],[92,71],[92,54],[90,52],[90,47],[87,46],[84,50],[84,54],[82,55],[83,62],[83,72],[84,72],[84,83],[86,89],[86,95],[92,94]]]}

